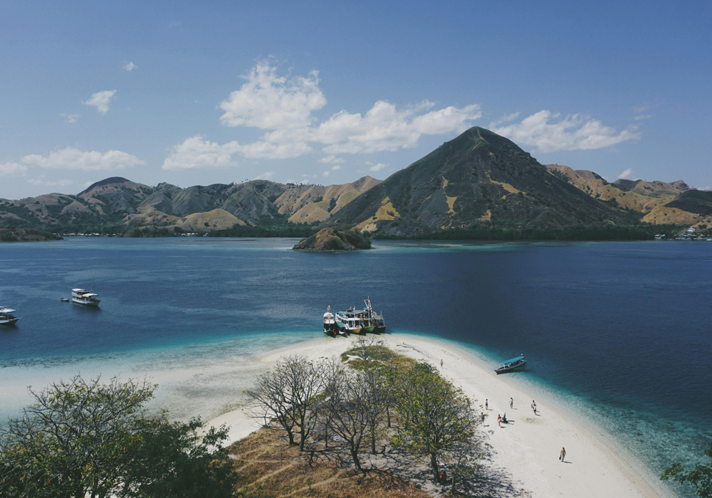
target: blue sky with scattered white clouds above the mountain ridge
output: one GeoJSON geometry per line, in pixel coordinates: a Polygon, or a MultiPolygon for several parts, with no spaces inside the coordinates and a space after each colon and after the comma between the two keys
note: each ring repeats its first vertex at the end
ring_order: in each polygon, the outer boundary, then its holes
{"type": "Polygon", "coordinates": [[[712,4],[19,2],[0,197],[384,179],[464,129],[609,180],[712,186],[712,4]]]}

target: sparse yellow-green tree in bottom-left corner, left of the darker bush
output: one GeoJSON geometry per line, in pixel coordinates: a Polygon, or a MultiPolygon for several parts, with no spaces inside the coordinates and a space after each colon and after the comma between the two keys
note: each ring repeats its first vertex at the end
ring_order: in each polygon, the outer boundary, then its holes
{"type": "Polygon", "coordinates": [[[0,494],[105,497],[117,489],[152,422],[155,386],[75,376],[32,391],[35,403],[0,433],[0,494]]]}

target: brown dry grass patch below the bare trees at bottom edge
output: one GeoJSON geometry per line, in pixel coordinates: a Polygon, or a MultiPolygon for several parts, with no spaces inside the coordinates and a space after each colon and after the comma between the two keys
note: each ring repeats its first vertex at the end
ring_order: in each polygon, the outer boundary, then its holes
{"type": "Polygon", "coordinates": [[[352,470],[347,462],[325,452],[300,453],[280,437],[281,432],[261,429],[230,447],[243,498],[428,497],[414,483],[389,470],[352,470]]]}

